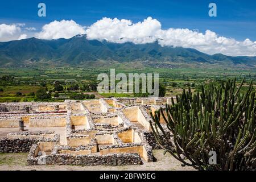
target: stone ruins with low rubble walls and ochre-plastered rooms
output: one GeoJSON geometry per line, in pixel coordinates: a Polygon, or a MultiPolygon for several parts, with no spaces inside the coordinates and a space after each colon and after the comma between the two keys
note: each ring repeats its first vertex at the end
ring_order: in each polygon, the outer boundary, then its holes
{"type": "Polygon", "coordinates": [[[150,111],[165,104],[171,98],[3,103],[0,153],[29,152],[28,165],[153,162],[150,111]]]}

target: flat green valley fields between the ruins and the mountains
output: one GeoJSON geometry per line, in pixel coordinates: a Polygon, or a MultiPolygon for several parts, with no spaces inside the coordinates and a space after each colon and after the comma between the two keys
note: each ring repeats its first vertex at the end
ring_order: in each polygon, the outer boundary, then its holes
{"type": "MultiPolygon", "coordinates": [[[[0,68],[0,102],[36,101],[31,93],[43,87],[51,94],[46,101],[64,101],[77,94],[92,94],[94,89],[82,89],[84,85],[97,85],[97,76],[100,73],[110,73],[110,68],[0,68]],[[55,90],[55,82],[59,81],[63,90],[55,90]],[[74,85],[78,87],[71,90],[74,85]],[[57,93],[57,94],[56,94],[57,93]],[[55,97],[58,96],[58,97],[55,97]]],[[[199,90],[205,82],[216,82],[236,77],[239,82],[242,78],[254,81],[256,85],[256,69],[211,69],[211,68],[139,68],[117,67],[117,73],[159,73],[160,82],[166,88],[166,96],[175,96],[191,86],[192,91],[199,90]]],[[[246,83],[247,84],[247,83],[246,83]]],[[[246,86],[245,84],[245,86],[246,86]]],[[[128,93],[95,94],[100,97],[133,97],[128,93]]],[[[86,98],[84,98],[86,99],[86,98]]]]}

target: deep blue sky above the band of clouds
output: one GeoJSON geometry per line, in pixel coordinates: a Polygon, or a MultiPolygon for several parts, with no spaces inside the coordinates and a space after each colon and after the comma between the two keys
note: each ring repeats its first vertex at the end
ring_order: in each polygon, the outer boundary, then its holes
{"type": "Polygon", "coordinates": [[[1,23],[26,23],[40,28],[53,20],[73,19],[89,26],[102,17],[141,21],[156,18],[163,28],[189,28],[204,32],[209,29],[218,35],[237,40],[256,40],[256,1],[1,1],[1,23]],[[46,18],[37,15],[38,3],[47,6],[46,18]],[[217,4],[217,17],[208,16],[210,2],[217,4]]]}

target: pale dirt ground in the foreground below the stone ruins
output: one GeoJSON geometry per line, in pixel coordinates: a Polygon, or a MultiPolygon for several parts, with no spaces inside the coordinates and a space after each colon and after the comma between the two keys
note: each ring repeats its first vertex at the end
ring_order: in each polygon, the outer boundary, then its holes
{"type": "Polygon", "coordinates": [[[163,155],[163,150],[154,150],[157,162],[143,162],[136,166],[26,166],[27,153],[22,154],[0,154],[0,171],[191,171],[192,167],[182,167],[181,163],[170,154],[163,155]]]}

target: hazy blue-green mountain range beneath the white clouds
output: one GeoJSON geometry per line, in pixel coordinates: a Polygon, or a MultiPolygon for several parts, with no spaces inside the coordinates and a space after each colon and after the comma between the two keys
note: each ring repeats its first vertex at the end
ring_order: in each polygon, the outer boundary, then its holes
{"type": "Polygon", "coordinates": [[[86,35],[70,39],[29,38],[0,42],[1,67],[87,66],[115,64],[145,67],[240,67],[256,68],[256,57],[208,55],[192,48],[147,44],[110,43],[88,40],[86,35]]]}

